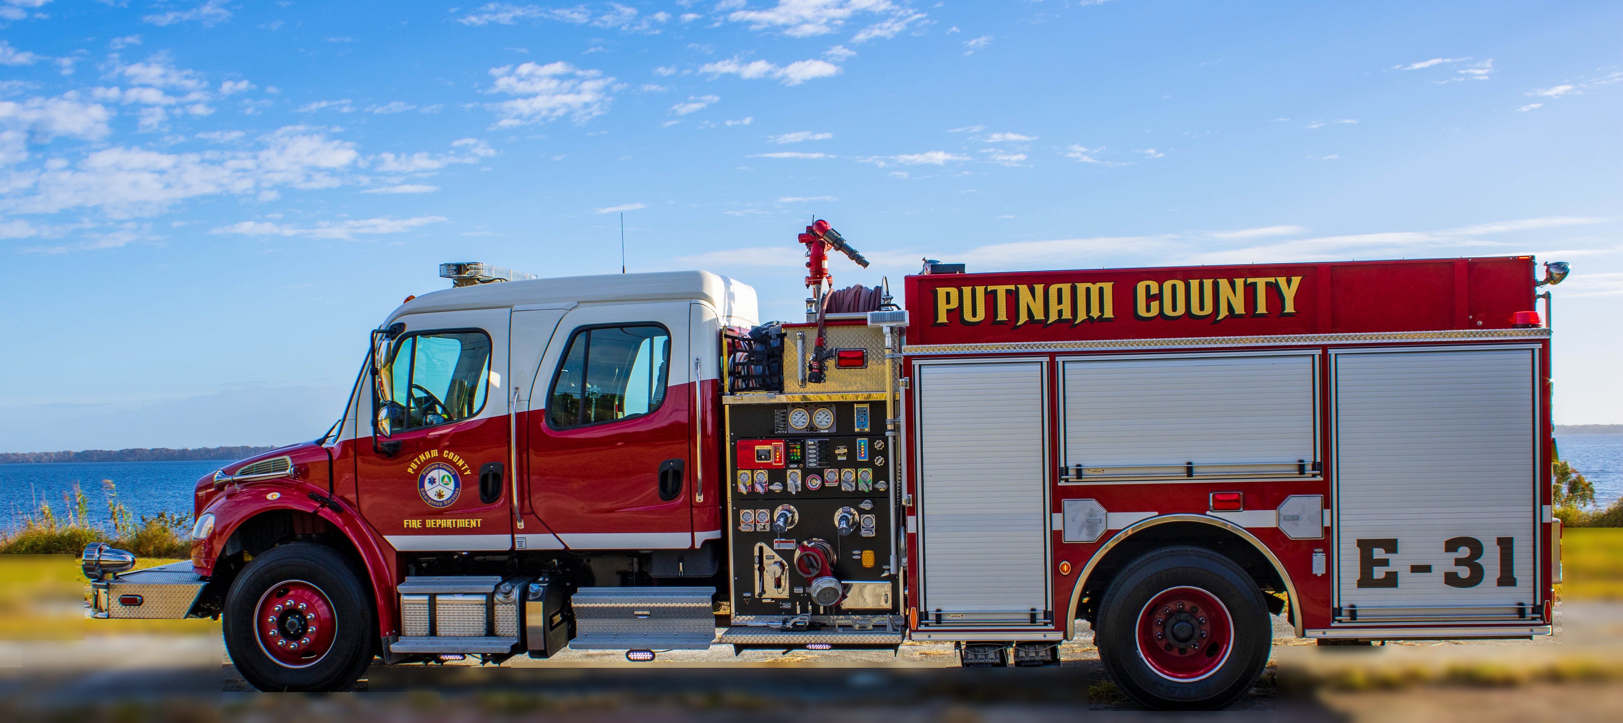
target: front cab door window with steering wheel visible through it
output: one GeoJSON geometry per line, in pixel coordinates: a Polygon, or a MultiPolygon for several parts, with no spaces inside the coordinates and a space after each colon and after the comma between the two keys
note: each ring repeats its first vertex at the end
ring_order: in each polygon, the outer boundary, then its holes
{"type": "Polygon", "coordinates": [[[390,397],[406,407],[401,430],[466,420],[485,405],[490,337],[477,331],[403,337],[385,374],[390,397]]]}

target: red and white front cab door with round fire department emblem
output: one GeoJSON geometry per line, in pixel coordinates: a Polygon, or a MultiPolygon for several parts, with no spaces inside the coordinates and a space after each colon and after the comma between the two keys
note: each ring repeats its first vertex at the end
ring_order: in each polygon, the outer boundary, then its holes
{"type": "Polygon", "coordinates": [[[398,404],[393,434],[355,444],[360,514],[399,551],[511,550],[508,310],[399,321],[381,353],[386,399],[364,407],[375,420],[398,404]]]}

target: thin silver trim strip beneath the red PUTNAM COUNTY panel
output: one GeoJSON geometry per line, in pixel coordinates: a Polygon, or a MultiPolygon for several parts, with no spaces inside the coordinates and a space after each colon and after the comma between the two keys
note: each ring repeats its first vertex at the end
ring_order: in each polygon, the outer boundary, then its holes
{"type": "Polygon", "coordinates": [[[1201,347],[1277,347],[1305,344],[1380,344],[1380,342],[1469,342],[1493,339],[1548,339],[1550,329],[1444,329],[1383,331],[1367,334],[1281,334],[1246,337],[1169,337],[1169,339],[1078,339],[1066,342],[1000,342],[1000,344],[917,344],[902,353],[977,353],[977,352],[1089,352],[1100,349],[1201,349],[1201,347]]]}

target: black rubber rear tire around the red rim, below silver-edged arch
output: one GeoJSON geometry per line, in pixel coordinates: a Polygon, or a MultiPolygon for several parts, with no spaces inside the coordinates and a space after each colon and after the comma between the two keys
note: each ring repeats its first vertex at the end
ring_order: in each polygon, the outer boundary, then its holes
{"type": "MultiPolygon", "coordinates": [[[[1172,614],[1182,616],[1183,608],[1172,614]]],[[[1165,619],[1170,626],[1175,622],[1172,614],[1156,616],[1157,622],[1165,619]]],[[[1217,619],[1216,614],[1212,618],[1217,619]]],[[[1268,665],[1268,652],[1274,644],[1263,592],[1258,590],[1251,575],[1229,558],[1196,546],[1160,548],[1128,563],[1105,590],[1096,622],[1094,645],[1099,647],[1105,673],[1123,694],[1146,708],[1157,710],[1216,710],[1232,704],[1256,682],[1263,666],[1268,665]],[[1227,613],[1230,631],[1227,650],[1216,644],[1206,645],[1193,637],[1186,637],[1195,640],[1188,645],[1186,658],[1175,658],[1175,655],[1183,655],[1185,648],[1172,648],[1170,645],[1175,645],[1172,637],[1164,637],[1162,642],[1144,639],[1146,645],[1167,645],[1165,655],[1159,650],[1146,653],[1139,648],[1141,631],[1157,631],[1151,634],[1165,631],[1165,635],[1172,635],[1172,627],[1154,627],[1147,619],[1141,627],[1141,616],[1146,613],[1156,616],[1156,611],[1151,611],[1147,605],[1152,600],[1175,598],[1180,595],[1178,590],[1193,590],[1188,595],[1206,593],[1203,600],[1216,598],[1222,608],[1227,608],[1217,611],[1227,613]],[[1214,648],[1216,652],[1212,652],[1214,648]],[[1201,655],[1206,657],[1204,661],[1196,660],[1201,655]],[[1180,679],[1157,671],[1147,657],[1156,657],[1157,661],[1172,658],[1173,663],[1188,660],[1190,665],[1206,665],[1209,670],[1204,673],[1201,670],[1172,671],[1172,674],[1190,676],[1180,679]]],[[[1188,635],[1188,631],[1193,629],[1199,631],[1199,637],[1204,639],[1206,627],[1203,626],[1206,626],[1206,618],[1199,618],[1199,626],[1190,627],[1186,624],[1178,632],[1188,635]]]]}

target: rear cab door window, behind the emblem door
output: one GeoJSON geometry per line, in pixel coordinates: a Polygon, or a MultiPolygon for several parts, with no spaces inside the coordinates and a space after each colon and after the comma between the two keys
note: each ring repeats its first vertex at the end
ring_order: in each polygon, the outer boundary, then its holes
{"type": "Polygon", "coordinates": [[[670,334],[662,326],[579,329],[547,396],[555,430],[646,415],[665,399],[670,334]]]}

